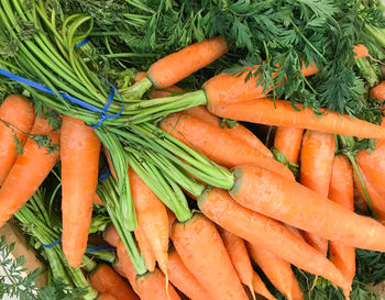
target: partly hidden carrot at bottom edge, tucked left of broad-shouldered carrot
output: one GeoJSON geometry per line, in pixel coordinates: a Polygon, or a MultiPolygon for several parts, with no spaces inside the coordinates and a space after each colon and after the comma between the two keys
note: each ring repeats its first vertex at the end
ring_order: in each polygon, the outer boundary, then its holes
{"type": "Polygon", "coordinates": [[[197,278],[187,269],[179,254],[172,249],[168,253],[167,269],[169,281],[191,300],[210,299],[197,278]]]}

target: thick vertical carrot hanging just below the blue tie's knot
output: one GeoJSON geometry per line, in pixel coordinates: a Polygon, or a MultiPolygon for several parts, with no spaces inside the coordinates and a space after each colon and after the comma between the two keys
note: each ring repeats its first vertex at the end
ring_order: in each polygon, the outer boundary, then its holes
{"type": "Polygon", "coordinates": [[[78,267],[87,248],[98,185],[100,141],[81,120],[63,116],[61,135],[63,252],[78,267]],[[81,222],[79,222],[81,220],[81,222]]]}

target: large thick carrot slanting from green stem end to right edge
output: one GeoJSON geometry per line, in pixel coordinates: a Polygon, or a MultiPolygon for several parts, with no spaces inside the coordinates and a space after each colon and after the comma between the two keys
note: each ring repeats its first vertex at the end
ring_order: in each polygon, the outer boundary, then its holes
{"type": "Polygon", "coordinates": [[[242,205],[343,245],[385,252],[385,226],[375,220],[258,167],[238,167],[233,174],[230,193],[242,205]]]}

